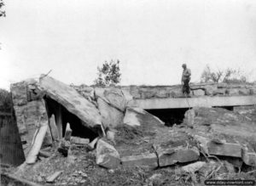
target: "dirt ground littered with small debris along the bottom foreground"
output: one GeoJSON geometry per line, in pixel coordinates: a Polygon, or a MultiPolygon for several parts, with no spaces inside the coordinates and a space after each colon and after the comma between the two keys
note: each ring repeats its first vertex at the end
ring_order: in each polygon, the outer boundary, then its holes
{"type": "MultiPolygon", "coordinates": [[[[108,170],[96,165],[94,151],[88,148],[73,147],[72,155],[64,157],[60,153],[50,158],[39,161],[33,166],[20,166],[18,177],[25,178],[33,183],[42,185],[202,185],[206,178],[220,179],[253,179],[256,180],[255,169],[247,172],[230,173],[224,166],[204,167],[195,173],[181,171],[180,167],[185,164],[167,166],[150,170],[148,168],[135,167],[131,169],[118,168],[108,170]],[[46,178],[55,172],[61,171],[61,175],[54,183],[47,183],[46,178]],[[250,172],[249,172],[250,171],[250,172]]],[[[207,160],[201,160],[207,161],[207,160]]],[[[9,170],[10,172],[14,170],[9,170]]],[[[1,180],[2,185],[8,185],[6,179],[1,180]]],[[[13,184],[13,185],[20,185],[13,184]]]]}

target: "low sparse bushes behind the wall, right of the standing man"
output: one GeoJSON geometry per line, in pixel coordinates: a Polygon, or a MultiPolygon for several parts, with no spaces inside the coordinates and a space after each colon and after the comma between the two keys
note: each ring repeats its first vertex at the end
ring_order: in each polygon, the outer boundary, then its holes
{"type": "Polygon", "coordinates": [[[212,70],[207,65],[201,74],[201,82],[244,83],[247,82],[247,77],[243,75],[240,69],[212,70]]]}

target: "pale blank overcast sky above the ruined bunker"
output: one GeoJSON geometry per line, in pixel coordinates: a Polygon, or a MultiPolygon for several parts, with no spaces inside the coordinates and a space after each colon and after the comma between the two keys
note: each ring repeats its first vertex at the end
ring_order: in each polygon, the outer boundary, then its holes
{"type": "Polygon", "coordinates": [[[180,83],[183,63],[199,82],[209,64],[256,79],[254,0],[11,0],[0,18],[0,87],[52,70],[92,84],[119,59],[121,84],[180,83]]]}

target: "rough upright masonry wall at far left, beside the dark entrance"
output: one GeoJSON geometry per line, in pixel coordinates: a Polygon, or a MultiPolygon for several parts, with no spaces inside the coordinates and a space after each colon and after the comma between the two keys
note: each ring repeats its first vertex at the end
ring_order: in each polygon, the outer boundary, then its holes
{"type": "Polygon", "coordinates": [[[41,117],[47,116],[44,101],[30,86],[30,82],[18,82],[11,85],[17,126],[25,155],[30,149],[41,117]]]}

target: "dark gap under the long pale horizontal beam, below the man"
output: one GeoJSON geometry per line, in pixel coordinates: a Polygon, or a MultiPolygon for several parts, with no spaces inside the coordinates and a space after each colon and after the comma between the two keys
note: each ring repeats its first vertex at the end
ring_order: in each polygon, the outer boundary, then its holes
{"type": "Polygon", "coordinates": [[[185,109],[159,109],[159,110],[147,110],[150,114],[157,116],[161,121],[166,123],[167,127],[172,127],[174,124],[181,124],[183,122],[185,112],[189,110],[185,109]]]}

